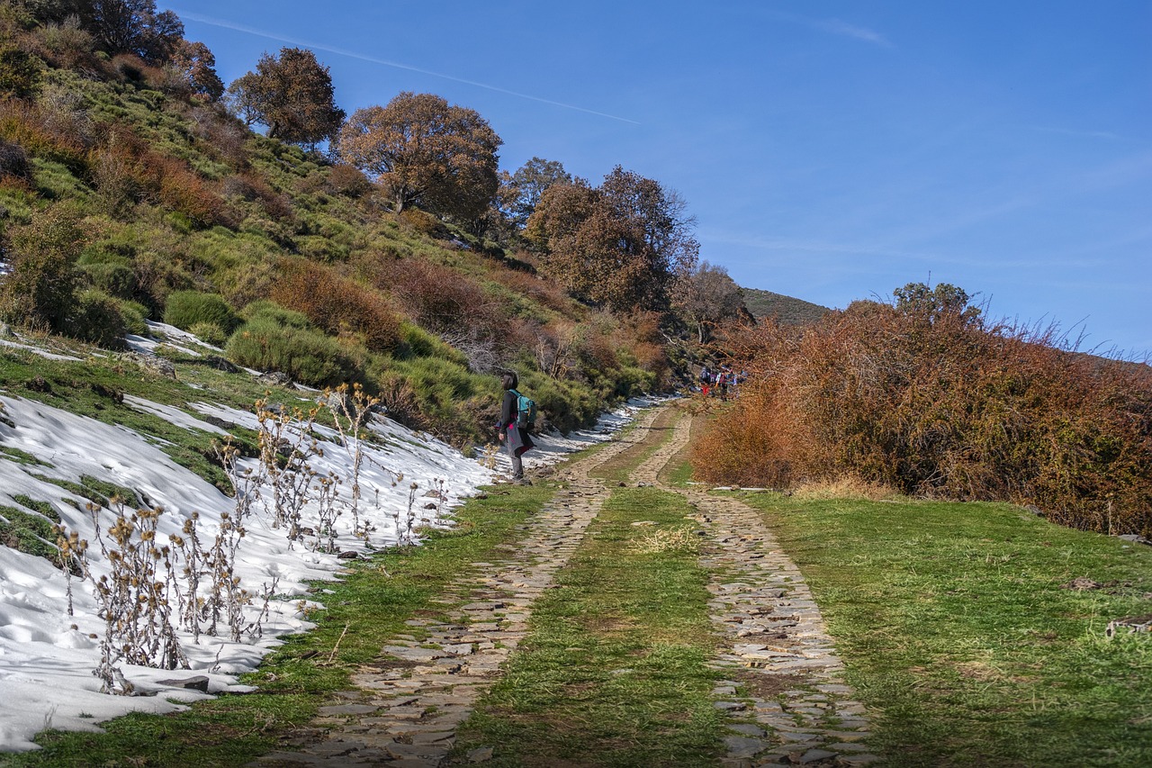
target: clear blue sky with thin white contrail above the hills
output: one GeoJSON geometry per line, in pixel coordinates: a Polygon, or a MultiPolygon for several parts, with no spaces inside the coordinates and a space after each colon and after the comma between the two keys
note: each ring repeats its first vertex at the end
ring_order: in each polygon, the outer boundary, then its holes
{"type": "Polygon", "coordinates": [[[350,114],[479,112],[501,167],[679,191],[702,257],[843,308],[952,283],[1152,353],[1149,0],[184,0],[226,83],[311,47],[350,114]]]}

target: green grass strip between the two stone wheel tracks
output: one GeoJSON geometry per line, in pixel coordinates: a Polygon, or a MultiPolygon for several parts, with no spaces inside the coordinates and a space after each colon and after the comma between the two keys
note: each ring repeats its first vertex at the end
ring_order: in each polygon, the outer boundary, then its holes
{"type": "Polygon", "coordinates": [[[537,601],[530,635],[461,726],[456,755],[493,746],[492,766],[715,765],[723,728],[705,589],[691,549],[634,551],[689,525],[687,503],[621,489],[537,601]],[[639,520],[655,526],[632,526],[639,520]]]}

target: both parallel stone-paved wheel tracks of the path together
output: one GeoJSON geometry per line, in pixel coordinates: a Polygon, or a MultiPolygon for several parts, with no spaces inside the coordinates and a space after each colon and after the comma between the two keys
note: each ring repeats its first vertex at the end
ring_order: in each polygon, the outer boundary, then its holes
{"type": "MultiPolygon", "coordinates": [[[[252,765],[440,766],[456,726],[524,638],[532,603],[608,497],[609,489],[589,472],[643,441],[659,413],[642,417],[634,439],[613,443],[558,475],[563,488],[525,525],[521,543],[505,558],[473,564],[488,575],[462,575],[437,601],[450,623],[411,619],[420,639],[396,637],[356,673],[356,688],[342,692],[297,733],[300,752],[272,753],[252,765]]],[[[673,438],[632,473],[636,482],[664,487],[659,473],[687,445],[690,423],[677,420],[673,438]]],[[[879,760],[861,744],[869,735],[864,707],[840,677],[820,611],[760,514],[736,499],[665,489],[688,497],[710,535],[702,563],[711,574],[710,609],[721,639],[712,663],[728,678],[713,694],[732,729],[722,763],[772,768],[879,760]]],[[[479,750],[469,759],[490,755],[479,750]]]]}

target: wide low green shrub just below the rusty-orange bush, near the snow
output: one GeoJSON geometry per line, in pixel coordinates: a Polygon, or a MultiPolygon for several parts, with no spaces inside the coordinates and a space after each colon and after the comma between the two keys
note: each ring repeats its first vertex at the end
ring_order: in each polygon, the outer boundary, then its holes
{"type": "Polygon", "coordinates": [[[356,357],[335,339],[306,327],[257,317],[228,339],[228,359],[257,370],[275,370],[311,386],[363,381],[356,357]]]}

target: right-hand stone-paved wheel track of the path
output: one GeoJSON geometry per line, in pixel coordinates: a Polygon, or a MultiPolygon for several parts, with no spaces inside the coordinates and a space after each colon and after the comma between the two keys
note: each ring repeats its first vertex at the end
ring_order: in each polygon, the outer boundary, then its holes
{"type": "Polygon", "coordinates": [[[712,620],[721,637],[713,665],[727,675],[713,694],[728,711],[727,766],[865,766],[879,760],[863,705],[840,677],[842,664],[820,610],[796,565],[781,551],[760,513],[732,498],[664,487],[660,470],[689,441],[682,417],[672,441],[632,477],[684,495],[711,534],[712,620]],[[743,688],[749,695],[737,697],[743,688]]]}

